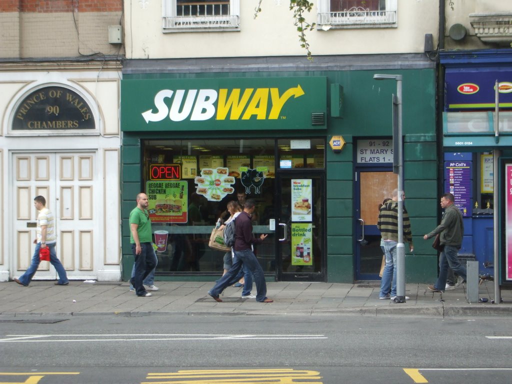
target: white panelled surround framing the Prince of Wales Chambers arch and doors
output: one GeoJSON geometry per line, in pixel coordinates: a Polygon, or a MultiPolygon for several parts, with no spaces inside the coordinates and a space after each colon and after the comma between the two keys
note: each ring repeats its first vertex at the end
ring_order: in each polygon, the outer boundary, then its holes
{"type": "MultiPolygon", "coordinates": [[[[12,207],[13,180],[10,159],[13,153],[42,152],[95,155],[94,193],[94,270],[68,270],[70,279],[119,281],[120,270],[120,77],[119,71],[100,69],[89,71],[0,71],[0,281],[8,281],[13,271],[12,207]],[[9,133],[10,116],[16,102],[34,87],[65,84],[86,95],[97,116],[100,132],[96,135],[41,133],[39,136],[9,133]]],[[[87,155],[89,156],[89,155],[87,155]]],[[[78,186],[77,186],[78,188],[78,186]]],[[[81,260],[81,259],[80,259],[81,260]]],[[[84,260],[86,260],[84,258],[84,260]]],[[[36,274],[37,278],[37,274],[36,274]]]]}

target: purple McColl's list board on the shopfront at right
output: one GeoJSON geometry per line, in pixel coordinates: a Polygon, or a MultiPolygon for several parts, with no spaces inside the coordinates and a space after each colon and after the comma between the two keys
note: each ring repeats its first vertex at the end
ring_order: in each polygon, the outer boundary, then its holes
{"type": "Polygon", "coordinates": [[[462,216],[471,216],[472,162],[445,161],[444,169],[444,190],[455,196],[462,216]]]}

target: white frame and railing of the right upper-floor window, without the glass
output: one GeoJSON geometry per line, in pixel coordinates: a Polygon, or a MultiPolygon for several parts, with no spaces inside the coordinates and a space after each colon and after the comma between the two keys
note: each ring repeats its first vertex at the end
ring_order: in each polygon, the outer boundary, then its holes
{"type": "Polygon", "coordinates": [[[363,7],[331,12],[330,0],[318,0],[318,29],[330,28],[396,28],[397,0],[386,0],[385,11],[371,11],[363,7]]]}

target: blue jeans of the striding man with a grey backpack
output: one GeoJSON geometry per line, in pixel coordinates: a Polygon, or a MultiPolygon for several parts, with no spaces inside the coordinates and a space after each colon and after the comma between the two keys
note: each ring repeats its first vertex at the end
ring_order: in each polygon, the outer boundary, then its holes
{"type": "MultiPolygon", "coordinates": [[[[254,275],[254,282],[256,283],[257,290],[256,300],[263,302],[265,298],[267,298],[267,284],[265,283],[265,274],[263,272],[263,268],[260,265],[260,262],[250,249],[234,251],[233,265],[208,293],[212,296],[218,297],[224,288],[236,283],[240,279],[238,278],[238,275],[243,265],[245,265],[254,275]]],[[[252,281],[250,282],[250,285],[248,284],[247,280],[245,281],[244,292],[246,290],[246,284],[250,293],[252,281]]],[[[242,292],[242,294],[244,294],[244,292],[242,292]]]]}

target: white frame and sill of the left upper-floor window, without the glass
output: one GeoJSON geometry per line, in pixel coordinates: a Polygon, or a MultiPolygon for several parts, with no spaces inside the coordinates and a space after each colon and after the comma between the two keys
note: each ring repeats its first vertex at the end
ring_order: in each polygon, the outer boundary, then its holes
{"type": "Polygon", "coordinates": [[[162,12],[164,33],[240,30],[240,0],[229,0],[229,15],[178,16],[176,0],[162,0],[162,12]]]}

